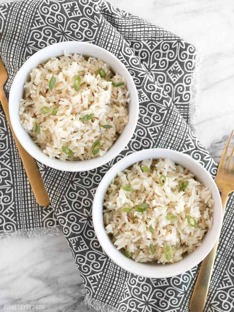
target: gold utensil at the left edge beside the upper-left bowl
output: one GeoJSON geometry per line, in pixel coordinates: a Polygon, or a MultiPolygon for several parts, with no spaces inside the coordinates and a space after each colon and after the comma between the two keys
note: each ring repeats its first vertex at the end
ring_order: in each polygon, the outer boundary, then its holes
{"type": "Polygon", "coordinates": [[[37,167],[37,163],[35,159],[30,156],[25,149],[23,149],[22,145],[17,140],[14,131],[12,129],[10,116],[9,116],[9,109],[8,109],[8,101],[6,98],[6,95],[4,93],[3,86],[5,82],[7,81],[7,71],[2,63],[2,60],[0,58],[0,102],[2,104],[3,110],[5,112],[8,124],[10,126],[10,129],[12,131],[13,138],[15,140],[15,143],[17,145],[20,157],[22,159],[22,163],[24,165],[25,171],[27,173],[28,180],[31,184],[34,196],[36,198],[36,201],[41,206],[47,206],[50,203],[49,197],[46,193],[46,189],[44,187],[40,171],[37,167]]]}

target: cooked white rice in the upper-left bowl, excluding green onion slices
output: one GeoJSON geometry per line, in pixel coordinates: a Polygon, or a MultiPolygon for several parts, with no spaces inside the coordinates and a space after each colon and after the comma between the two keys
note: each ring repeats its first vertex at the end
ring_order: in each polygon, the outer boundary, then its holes
{"type": "Polygon", "coordinates": [[[95,156],[105,155],[128,122],[126,79],[118,73],[113,75],[110,66],[102,60],[78,54],[51,57],[33,68],[30,76],[31,80],[24,85],[24,98],[20,100],[20,122],[43,152],[61,160],[90,159],[94,157],[93,144],[99,139],[100,151],[95,156]],[[99,68],[106,72],[105,78],[98,74],[99,68]],[[51,92],[52,75],[56,84],[51,92]],[[73,86],[77,75],[81,77],[78,91],[73,86]],[[115,87],[109,78],[124,85],[115,87]],[[41,113],[44,106],[50,108],[48,114],[41,113]],[[52,115],[54,109],[58,109],[56,115],[52,115]],[[94,118],[80,120],[90,114],[94,118]],[[36,132],[35,122],[40,134],[36,132]],[[113,128],[102,127],[107,124],[113,128]],[[73,155],[65,154],[62,146],[71,149],[73,155]]]}

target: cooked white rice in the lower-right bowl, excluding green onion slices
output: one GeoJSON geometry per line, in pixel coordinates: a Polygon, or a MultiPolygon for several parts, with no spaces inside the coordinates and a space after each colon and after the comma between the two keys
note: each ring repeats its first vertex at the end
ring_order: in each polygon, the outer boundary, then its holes
{"type": "MultiPolygon", "coordinates": [[[[124,248],[135,261],[155,260],[165,264],[181,260],[183,253],[202,245],[202,237],[212,227],[212,205],[211,190],[188,169],[170,159],[148,159],[118,173],[111,181],[105,195],[103,217],[106,232],[112,235],[117,249],[124,248]],[[142,166],[150,171],[143,172],[142,166]],[[159,183],[161,175],[166,176],[163,186],[159,183]],[[179,183],[184,181],[189,182],[188,186],[179,191],[179,183]],[[126,185],[134,191],[124,191],[121,187],[126,185]],[[149,204],[149,208],[136,212],[136,206],[141,203],[149,204]],[[123,212],[125,207],[132,208],[131,212],[123,212]],[[178,220],[169,221],[168,214],[178,220]],[[196,220],[197,228],[188,224],[188,215],[196,220]],[[154,233],[150,232],[150,226],[154,233]],[[169,261],[166,246],[171,247],[169,261]]],[[[190,223],[194,225],[193,219],[190,223]]]]}

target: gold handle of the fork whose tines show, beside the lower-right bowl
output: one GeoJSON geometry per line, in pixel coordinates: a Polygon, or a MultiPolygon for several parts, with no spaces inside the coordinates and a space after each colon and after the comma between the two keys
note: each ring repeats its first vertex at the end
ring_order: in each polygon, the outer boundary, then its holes
{"type": "MultiPolygon", "coordinates": [[[[222,207],[223,216],[227,204],[227,198],[229,193],[222,193],[222,207]]],[[[216,251],[218,248],[218,241],[215,243],[211,252],[202,261],[197,281],[193,290],[193,295],[190,301],[189,309],[191,312],[202,312],[206,305],[207,293],[209,290],[211,275],[213,271],[216,251]]]]}

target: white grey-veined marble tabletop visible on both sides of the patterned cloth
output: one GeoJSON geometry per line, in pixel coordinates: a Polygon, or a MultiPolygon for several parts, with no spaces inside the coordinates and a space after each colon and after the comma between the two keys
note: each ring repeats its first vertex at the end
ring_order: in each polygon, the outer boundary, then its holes
{"type": "MultiPolygon", "coordinates": [[[[0,0],[0,3],[5,0],[0,0]]],[[[234,2],[232,0],[110,0],[200,47],[197,136],[218,161],[233,128],[234,2]]],[[[0,244],[0,310],[44,304],[46,311],[93,311],[63,235],[0,244]]]]}

